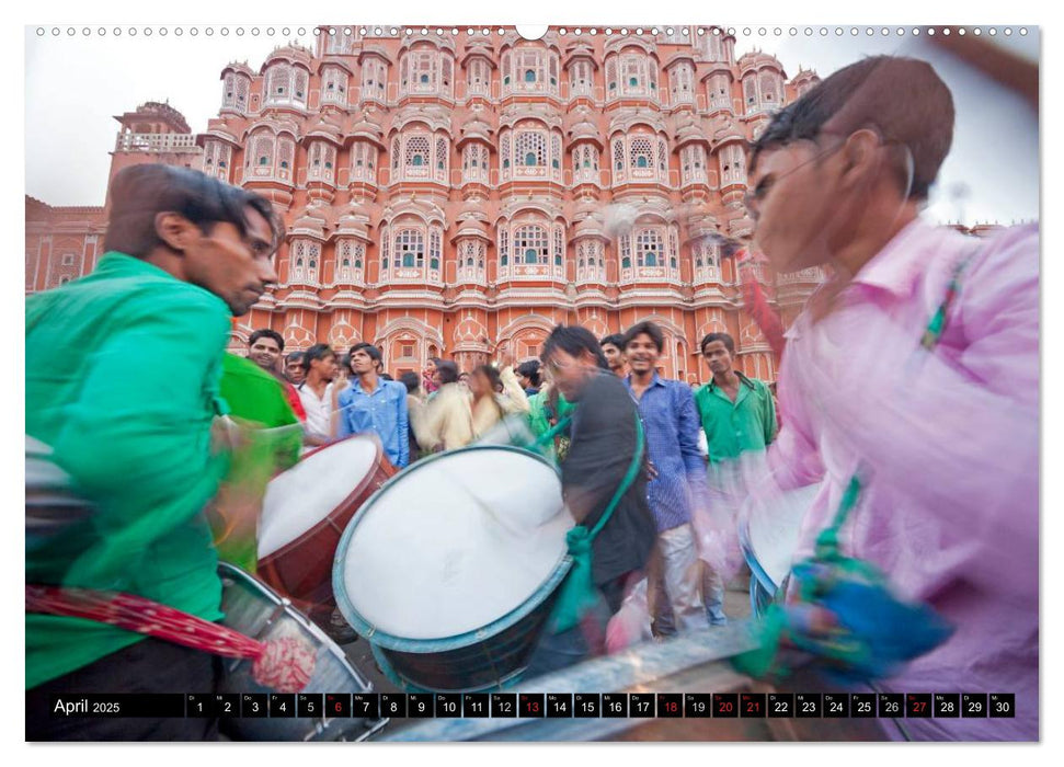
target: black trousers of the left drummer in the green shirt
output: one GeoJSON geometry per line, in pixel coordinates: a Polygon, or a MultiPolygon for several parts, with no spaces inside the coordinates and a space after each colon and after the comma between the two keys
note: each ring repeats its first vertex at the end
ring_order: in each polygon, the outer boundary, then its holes
{"type": "Polygon", "coordinates": [[[148,638],[26,690],[27,741],[216,741],[217,719],[53,717],[54,694],[218,691],[221,659],[148,638]]]}

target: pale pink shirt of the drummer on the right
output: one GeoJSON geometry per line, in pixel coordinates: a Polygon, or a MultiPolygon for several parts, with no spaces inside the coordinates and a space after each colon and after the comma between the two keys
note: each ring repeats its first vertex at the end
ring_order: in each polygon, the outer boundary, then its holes
{"type": "Polygon", "coordinates": [[[768,459],[783,488],[825,480],[797,557],[860,466],[843,551],[957,627],[881,688],[1016,694],[1015,719],[903,720],[914,739],[1038,737],[1038,253],[1036,226],[976,240],[916,220],[826,319],[803,312],[787,334],[768,459]],[[919,340],[969,256],[929,353],[919,340]]]}

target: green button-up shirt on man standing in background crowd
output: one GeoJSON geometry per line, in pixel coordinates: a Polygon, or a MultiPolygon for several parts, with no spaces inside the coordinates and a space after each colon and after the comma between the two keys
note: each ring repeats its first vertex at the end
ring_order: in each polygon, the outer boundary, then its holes
{"type": "Polygon", "coordinates": [[[739,393],[732,402],[716,381],[695,392],[695,405],[709,444],[709,460],[737,458],[745,450],[764,450],[776,436],[776,405],[765,381],[739,373],[739,393]]]}

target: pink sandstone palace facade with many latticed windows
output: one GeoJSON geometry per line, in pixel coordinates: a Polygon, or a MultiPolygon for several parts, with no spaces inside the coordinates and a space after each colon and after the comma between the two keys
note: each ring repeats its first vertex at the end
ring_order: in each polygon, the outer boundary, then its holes
{"type": "MultiPolygon", "coordinates": [[[[652,319],[667,377],[708,378],[698,340],[725,331],[741,370],[776,379],[720,242],[752,230],[746,142],[814,72],[736,58],[717,28],[332,31],[227,66],[201,134],[167,104],[116,117],[112,175],[191,167],[283,213],[281,281],[234,320],[233,350],[267,327],[286,352],[369,341],[398,375],[529,358],[559,322],[603,336],[652,319]]],[[[26,293],[91,272],[106,220],[26,197],[26,293]]],[[[823,277],[757,276],[785,324],[823,277]]]]}

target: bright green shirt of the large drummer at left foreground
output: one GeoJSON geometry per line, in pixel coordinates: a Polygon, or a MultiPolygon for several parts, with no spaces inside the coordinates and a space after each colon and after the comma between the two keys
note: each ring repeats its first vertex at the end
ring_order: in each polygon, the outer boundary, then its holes
{"type": "MultiPolygon", "coordinates": [[[[211,455],[230,313],[217,296],[106,253],[91,275],[26,299],[26,434],[92,514],[26,551],[26,582],[124,591],[222,617],[203,507],[228,458],[211,455]]],[[[26,687],[144,639],[26,615],[26,687]]]]}

